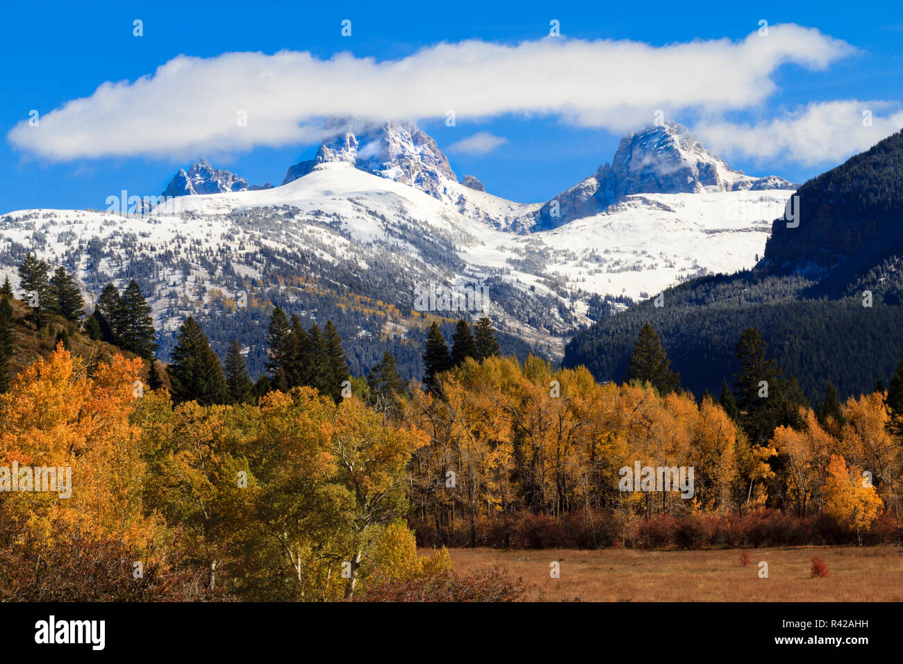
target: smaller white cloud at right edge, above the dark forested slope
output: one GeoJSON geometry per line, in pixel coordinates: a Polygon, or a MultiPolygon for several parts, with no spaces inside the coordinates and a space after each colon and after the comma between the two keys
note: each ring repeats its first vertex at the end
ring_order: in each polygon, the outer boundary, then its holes
{"type": "Polygon", "coordinates": [[[813,102],[755,125],[703,123],[693,134],[722,156],[780,158],[811,166],[840,162],[901,127],[903,109],[896,102],[843,99],[813,102]]]}

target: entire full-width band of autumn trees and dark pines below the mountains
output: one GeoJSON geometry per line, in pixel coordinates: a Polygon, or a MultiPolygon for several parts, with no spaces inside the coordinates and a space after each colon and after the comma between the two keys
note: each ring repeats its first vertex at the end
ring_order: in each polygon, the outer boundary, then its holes
{"type": "MultiPolygon", "coordinates": [[[[23,293],[29,315],[65,315],[54,294],[68,280],[54,290],[33,260],[21,272],[38,278],[20,282],[39,289],[36,300],[23,293]]],[[[66,311],[77,319],[78,303],[66,311]]],[[[0,491],[4,599],[385,597],[392,584],[452,578],[447,553],[418,555],[418,539],[899,538],[903,363],[887,389],[839,403],[829,387],[811,407],[750,328],[737,343],[740,373],[717,400],[697,400],[651,327],[616,385],[500,356],[483,318],[461,320],[451,343],[433,323],[423,380],[405,384],[390,353],[368,376],[349,376],[329,322],[305,328],[275,307],[268,370],[252,381],[237,343],[224,367],[193,318],[169,365],[148,367],[153,319],[132,284],[107,287],[84,330],[135,359],[88,363],[61,340],[0,395],[0,469],[73,471],[68,500],[0,491]],[[692,497],[622,491],[622,469],[635,463],[693,467],[692,497]]]]}

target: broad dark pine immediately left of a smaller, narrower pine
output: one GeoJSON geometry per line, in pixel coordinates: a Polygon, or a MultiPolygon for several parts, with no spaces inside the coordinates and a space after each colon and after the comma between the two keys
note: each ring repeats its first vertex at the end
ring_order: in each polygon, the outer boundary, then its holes
{"type": "Polygon", "coordinates": [[[197,401],[201,406],[223,404],[228,399],[226,379],[219,357],[210,348],[200,325],[189,316],[176,333],[172,363],[167,369],[176,403],[197,401]]]}

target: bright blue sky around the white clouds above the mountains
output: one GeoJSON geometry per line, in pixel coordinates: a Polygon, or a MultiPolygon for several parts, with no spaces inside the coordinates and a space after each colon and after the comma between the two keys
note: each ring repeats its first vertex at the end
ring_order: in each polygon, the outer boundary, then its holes
{"type": "MultiPolygon", "coordinates": [[[[182,135],[188,133],[186,123],[197,118],[191,117],[190,109],[186,111],[184,107],[194,108],[191,96],[201,93],[191,87],[178,95],[184,96],[184,103],[181,110],[173,108],[172,114],[172,97],[161,98],[159,108],[151,112],[146,108],[146,100],[136,95],[130,98],[126,91],[123,110],[117,112],[116,120],[105,121],[108,125],[98,122],[85,129],[85,135],[68,154],[57,154],[57,146],[66,142],[64,139],[72,135],[72,127],[76,125],[71,120],[64,121],[64,117],[56,124],[42,123],[43,143],[32,141],[36,134],[20,130],[23,138],[19,145],[13,145],[11,130],[23,121],[27,123],[32,109],[47,117],[73,99],[90,98],[107,81],[131,84],[139,77],[153,76],[158,67],[179,55],[216,59],[234,51],[262,51],[269,56],[288,50],[309,51],[314,59],[328,61],[338,52],[350,51],[355,59],[397,61],[433,49],[440,42],[479,40],[514,48],[522,42],[542,40],[549,33],[550,20],[555,19],[560,22],[562,40],[636,42],[644,52],[655,56],[662,47],[675,43],[725,38],[739,43],[759,30],[762,19],[768,21],[772,30],[780,23],[796,23],[816,28],[824,40],[834,41],[833,46],[816,43],[800,56],[804,60],[824,56],[828,61],[820,69],[812,69],[796,55],[789,55],[787,61],[778,62],[761,75],[771,88],[760,98],[738,103],[742,91],[729,90],[723,95],[727,101],[715,105],[718,108],[694,106],[691,98],[684,100],[683,106],[677,105],[674,114],[668,110],[670,119],[691,126],[694,131],[698,127],[706,145],[711,143],[706,136],[720,142],[723,149],[716,148],[716,151],[724,154],[731,165],[750,174],[777,173],[796,182],[823,172],[844,156],[898,128],[901,116],[897,105],[903,99],[903,50],[899,48],[903,39],[903,10],[890,4],[846,4],[845,7],[838,4],[833,9],[824,3],[725,3],[712,11],[694,5],[678,7],[674,3],[650,2],[610,5],[526,2],[506,7],[470,2],[404,6],[373,3],[313,6],[298,2],[219,2],[204,6],[157,2],[98,3],[77,8],[51,2],[7,5],[4,14],[5,20],[0,24],[0,51],[5,63],[4,84],[0,87],[0,127],[4,136],[0,141],[3,151],[0,178],[5,186],[0,189],[0,211],[38,207],[104,208],[107,196],[123,189],[138,195],[157,194],[163,191],[175,170],[200,157],[209,157],[214,165],[233,170],[250,182],[278,184],[290,164],[313,154],[316,141],[309,136],[286,139],[283,145],[274,145],[280,142],[272,136],[263,136],[250,145],[229,139],[221,149],[211,148],[209,142],[192,144],[182,135]],[[135,19],[144,23],[141,37],[133,35],[135,19]],[[350,37],[340,33],[343,19],[352,21],[350,37]],[[836,43],[842,44],[839,51],[836,43]],[[827,51],[832,54],[824,55],[827,51]],[[837,106],[831,107],[827,115],[805,114],[805,109],[814,103],[837,106]],[[860,108],[872,107],[875,107],[875,123],[870,133],[864,133],[856,128],[860,108]],[[134,120],[130,114],[135,115],[134,120]],[[851,120],[852,116],[855,117],[851,120]],[[795,117],[803,124],[794,124],[795,117]],[[842,122],[837,117],[843,117],[842,122]],[[768,123],[776,119],[783,124],[768,128],[768,123]],[[131,122],[135,124],[128,124],[131,122]],[[114,145],[106,154],[90,154],[86,143],[102,141],[105,126],[109,127],[108,136],[113,136],[114,145]],[[179,135],[173,139],[173,145],[181,146],[173,148],[170,154],[154,154],[141,141],[136,141],[133,147],[130,139],[147,132],[129,129],[130,126],[153,126],[162,136],[179,135]],[[745,130],[740,132],[735,126],[745,130]],[[815,129],[815,138],[797,140],[796,135],[804,129],[810,132],[815,129]],[[50,131],[57,134],[51,135],[50,131]],[[824,133],[824,141],[817,139],[819,131],[824,133]],[[831,143],[830,137],[836,140],[831,143]],[[777,147],[768,149],[762,145],[772,138],[777,147]],[[116,147],[116,141],[122,144],[122,149],[116,147]]],[[[795,39],[786,40],[786,51],[794,50],[795,39]]],[[[725,87],[730,87],[732,79],[739,77],[742,81],[747,75],[741,67],[731,70],[733,57],[733,53],[727,54],[728,64],[718,65],[723,68],[719,76],[725,87]]],[[[688,79],[695,78],[698,73],[695,70],[706,66],[706,61],[698,57],[688,61],[693,63],[685,72],[688,79]]],[[[743,62],[738,60],[739,65],[743,62]]],[[[572,75],[579,73],[576,83],[571,80],[568,84],[573,86],[585,80],[585,89],[598,93],[599,72],[586,64],[587,61],[574,56],[573,62],[563,68],[572,75]]],[[[240,66],[247,70],[254,65],[243,62],[240,66]]],[[[653,57],[648,67],[654,70],[656,66],[653,57]]],[[[222,76],[222,70],[219,71],[221,79],[228,79],[228,75],[222,76]]],[[[599,103],[598,98],[587,99],[580,110],[581,119],[575,120],[567,112],[566,97],[576,93],[568,92],[563,93],[565,98],[557,110],[545,112],[543,88],[555,87],[554,74],[552,79],[547,78],[548,72],[545,79],[537,74],[532,81],[529,72],[524,73],[525,87],[534,84],[536,87],[530,90],[531,94],[535,93],[530,108],[504,108],[496,100],[495,106],[481,115],[461,114],[452,127],[446,126],[444,118],[438,115],[419,117],[418,122],[443,149],[478,132],[504,138],[506,142],[488,154],[449,153],[452,168],[459,176],[476,175],[489,192],[517,201],[542,201],[609,161],[626,120],[624,114],[613,117],[610,109],[596,114],[593,104],[599,103]]],[[[441,77],[442,73],[437,76],[441,77]]],[[[611,94],[622,95],[627,103],[632,103],[629,96],[632,93],[612,89],[611,94]]],[[[316,98],[306,101],[315,109],[316,98]]],[[[667,98],[665,102],[650,103],[665,106],[666,102],[667,98]]],[[[478,108],[480,100],[474,103],[474,108],[478,108]]],[[[638,102],[642,111],[630,112],[646,117],[643,103],[646,102],[638,102]]],[[[203,105],[198,104],[196,108],[203,105]]]]}

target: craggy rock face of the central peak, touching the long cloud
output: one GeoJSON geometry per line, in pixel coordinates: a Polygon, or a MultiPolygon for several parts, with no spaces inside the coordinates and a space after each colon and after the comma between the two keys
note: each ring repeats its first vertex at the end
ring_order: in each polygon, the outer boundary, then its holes
{"type": "Polygon", "coordinates": [[[409,184],[439,199],[445,193],[445,181],[457,182],[433,137],[412,124],[389,122],[357,133],[345,131],[320,145],[313,159],[289,167],[283,184],[326,162],[349,162],[361,171],[409,184]]]}

